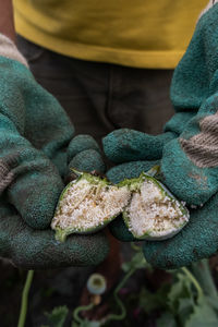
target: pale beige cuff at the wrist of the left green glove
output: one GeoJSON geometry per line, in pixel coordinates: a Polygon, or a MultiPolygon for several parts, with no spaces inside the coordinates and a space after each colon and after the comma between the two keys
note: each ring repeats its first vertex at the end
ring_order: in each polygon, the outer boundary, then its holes
{"type": "Polygon", "coordinates": [[[28,68],[26,59],[17,50],[15,44],[3,34],[0,34],[0,56],[20,61],[28,68]]]}

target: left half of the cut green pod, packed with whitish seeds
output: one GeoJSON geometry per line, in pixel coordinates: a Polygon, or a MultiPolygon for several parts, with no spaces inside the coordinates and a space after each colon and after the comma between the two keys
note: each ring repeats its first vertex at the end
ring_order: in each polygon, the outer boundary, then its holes
{"type": "Polygon", "coordinates": [[[102,229],[128,205],[131,192],[107,179],[82,172],[63,190],[51,228],[56,239],[64,241],[71,233],[90,233],[102,229]]]}

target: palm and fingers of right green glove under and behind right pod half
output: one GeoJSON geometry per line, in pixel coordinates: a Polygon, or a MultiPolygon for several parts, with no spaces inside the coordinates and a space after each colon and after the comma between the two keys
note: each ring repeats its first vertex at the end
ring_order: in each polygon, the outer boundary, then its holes
{"type": "MultiPolygon", "coordinates": [[[[118,183],[123,178],[138,177],[142,171],[149,170],[158,161],[134,161],[113,167],[108,178],[118,183]]],[[[143,241],[143,252],[147,262],[162,269],[189,266],[204,257],[208,257],[218,249],[218,193],[197,209],[190,208],[190,222],[172,239],[165,241],[143,241]]],[[[132,233],[125,227],[122,217],[110,225],[110,231],[120,241],[133,242],[132,233]]]]}

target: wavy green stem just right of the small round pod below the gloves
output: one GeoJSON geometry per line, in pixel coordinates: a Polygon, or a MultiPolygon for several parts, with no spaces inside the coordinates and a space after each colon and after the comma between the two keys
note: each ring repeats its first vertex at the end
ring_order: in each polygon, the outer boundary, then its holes
{"type": "Polygon", "coordinates": [[[122,289],[122,287],[125,284],[128,279],[135,272],[135,270],[136,270],[136,268],[130,269],[128,271],[128,274],[124,276],[124,278],[121,280],[121,282],[117,286],[117,288],[113,292],[113,296],[114,296],[114,300],[117,302],[117,305],[120,307],[120,314],[110,314],[110,315],[108,315],[107,318],[104,320],[104,323],[108,323],[109,320],[122,320],[122,319],[124,319],[124,317],[126,315],[126,311],[125,311],[123,302],[118,296],[118,292],[120,291],[120,289],[122,289]]]}

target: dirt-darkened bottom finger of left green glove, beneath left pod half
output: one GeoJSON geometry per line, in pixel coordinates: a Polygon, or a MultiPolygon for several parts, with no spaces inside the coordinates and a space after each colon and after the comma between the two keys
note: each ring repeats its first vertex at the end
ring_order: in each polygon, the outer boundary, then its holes
{"type": "Polygon", "coordinates": [[[55,240],[53,231],[34,230],[15,208],[0,198],[0,254],[16,267],[50,269],[89,266],[104,261],[108,244],[104,233],[69,237],[64,243],[55,240]]]}

